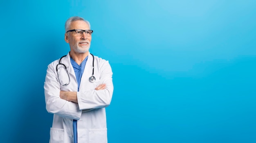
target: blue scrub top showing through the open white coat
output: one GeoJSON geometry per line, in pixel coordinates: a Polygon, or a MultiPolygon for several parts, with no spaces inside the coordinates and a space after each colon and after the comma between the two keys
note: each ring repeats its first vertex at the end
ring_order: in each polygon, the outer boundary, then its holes
{"type": "MultiPolygon", "coordinates": [[[[78,65],[71,57],[70,62],[74,68],[75,74],[76,74],[76,81],[78,84],[77,91],[79,91],[81,77],[83,75],[83,71],[85,68],[86,61],[88,59],[88,56],[83,60],[83,62],[78,65]]],[[[77,143],[77,120],[73,120],[73,132],[74,132],[74,143],[77,143]]]]}

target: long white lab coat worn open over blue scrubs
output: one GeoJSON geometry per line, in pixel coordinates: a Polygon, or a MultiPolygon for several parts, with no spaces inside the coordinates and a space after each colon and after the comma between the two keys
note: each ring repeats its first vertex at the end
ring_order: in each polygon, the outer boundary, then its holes
{"type": "MultiPolygon", "coordinates": [[[[62,86],[58,82],[56,65],[59,59],[48,65],[44,85],[45,102],[47,111],[54,114],[50,129],[50,143],[74,142],[73,119],[77,120],[78,143],[108,142],[105,107],[110,104],[113,94],[112,69],[108,61],[94,56],[96,81],[90,82],[89,77],[92,76],[93,69],[92,59],[92,55],[88,54],[79,92],[77,92],[78,104],[60,98],[60,91],[77,91],[78,84],[70,63],[70,54],[61,59],[61,63],[65,64],[70,76],[69,85],[62,86]],[[95,87],[102,83],[106,84],[106,89],[95,90],[95,87]],[[93,110],[90,111],[90,109],[93,110]]],[[[60,80],[68,80],[67,74],[61,74],[60,80]]]]}

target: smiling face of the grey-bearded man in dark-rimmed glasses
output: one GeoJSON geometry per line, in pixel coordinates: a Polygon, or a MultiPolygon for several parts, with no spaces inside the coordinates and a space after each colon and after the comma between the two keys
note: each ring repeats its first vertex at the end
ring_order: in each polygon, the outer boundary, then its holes
{"type": "MultiPolygon", "coordinates": [[[[68,30],[73,29],[90,30],[90,27],[83,20],[76,20],[71,22],[68,30]]],[[[65,41],[70,44],[70,52],[75,54],[88,52],[91,45],[91,40],[92,36],[85,35],[85,32],[79,36],[75,34],[75,31],[65,33],[65,41]]]]}

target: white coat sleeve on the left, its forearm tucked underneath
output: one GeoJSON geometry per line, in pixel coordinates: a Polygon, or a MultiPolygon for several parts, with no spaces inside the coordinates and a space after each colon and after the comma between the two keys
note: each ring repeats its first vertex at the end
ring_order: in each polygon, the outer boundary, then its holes
{"type": "Polygon", "coordinates": [[[46,110],[49,113],[56,114],[61,117],[79,120],[82,111],[79,110],[77,103],[63,100],[60,98],[60,85],[58,77],[54,72],[54,65],[49,65],[45,77],[45,103],[46,110]]]}

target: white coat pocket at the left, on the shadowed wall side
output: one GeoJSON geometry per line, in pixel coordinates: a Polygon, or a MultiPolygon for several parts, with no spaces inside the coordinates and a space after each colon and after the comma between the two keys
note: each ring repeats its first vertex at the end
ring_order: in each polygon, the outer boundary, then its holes
{"type": "Polygon", "coordinates": [[[51,128],[50,129],[50,143],[63,143],[64,129],[51,128]]]}

